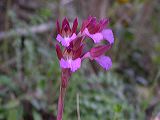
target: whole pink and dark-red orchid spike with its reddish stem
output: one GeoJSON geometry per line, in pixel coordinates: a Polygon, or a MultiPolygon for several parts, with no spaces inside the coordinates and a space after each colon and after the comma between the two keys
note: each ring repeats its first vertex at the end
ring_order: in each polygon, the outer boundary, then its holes
{"type": "MultiPolygon", "coordinates": [[[[83,21],[80,31],[77,32],[77,18],[74,20],[72,28],[66,18],[64,18],[61,27],[59,21],[57,21],[58,35],[56,40],[62,46],[60,47],[59,44],[56,45],[56,52],[62,69],[61,92],[63,88],[67,87],[71,74],[81,67],[82,61],[86,58],[95,60],[105,70],[111,68],[112,61],[110,57],[104,55],[114,43],[113,32],[107,28],[108,23],[108,19],[97,21],[95,17],[90,16],[87,20],[83,21]],[[88,51],[84,50],[86,38],[90,38],[95,44],[88,51]],[[107,41],[105,42],[107,44],[100,44],[102,41],[107,41]]],[[[63,113],[62,101],[64,98],[61,94],[63,93],[60,93],[57,120],[62,119],[63,113]]]]}

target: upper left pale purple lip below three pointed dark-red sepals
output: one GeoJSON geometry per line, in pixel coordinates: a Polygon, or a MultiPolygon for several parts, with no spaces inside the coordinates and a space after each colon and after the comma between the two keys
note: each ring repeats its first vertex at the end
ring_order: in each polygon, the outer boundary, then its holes
{"type": "Polygon", "coordinates": [[[63,46],[68,47],[70,45],[70,42],[74,40],[77,37],[75,33],[71,37],[62,37],[60,34],[57,35],[57,41],[61,42],[63,46]]]}

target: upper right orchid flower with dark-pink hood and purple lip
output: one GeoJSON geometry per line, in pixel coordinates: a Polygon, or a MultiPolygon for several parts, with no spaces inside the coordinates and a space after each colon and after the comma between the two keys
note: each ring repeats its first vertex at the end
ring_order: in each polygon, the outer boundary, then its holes
{"type": "Polygon", "coordinates": [[[107,40],[110,44],[113,44],[113,32],[111,29],[105,28],[108,22],[108,19],[97,21],[95,17],[90,16],[82,23],[81,32],[92,38],[94,43],[99,43],[102,40],[107,40]]]}

